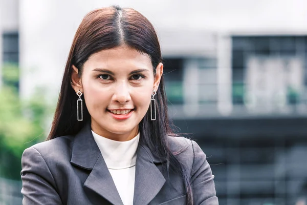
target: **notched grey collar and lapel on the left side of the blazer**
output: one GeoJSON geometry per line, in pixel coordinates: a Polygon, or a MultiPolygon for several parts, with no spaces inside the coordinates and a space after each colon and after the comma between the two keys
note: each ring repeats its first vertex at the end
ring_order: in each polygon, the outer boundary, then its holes
{"type": "Polygon", "coordinates": [[[113,204],[123,204],[94,140],[90,122],[75,136],[71,163],[92,170],[83,184],[84,187],[93,190],[113,204]]]}

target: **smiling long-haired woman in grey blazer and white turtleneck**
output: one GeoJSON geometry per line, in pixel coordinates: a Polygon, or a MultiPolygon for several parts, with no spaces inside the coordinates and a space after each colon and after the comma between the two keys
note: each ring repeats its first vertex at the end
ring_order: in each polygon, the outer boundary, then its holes
{"type": "Polygon", "coordinates": [[[84,17],[48,140],[21,160],[24,204],[218,204],[206,155],[171,132],[161,61],[139,12],[84,17]]]}

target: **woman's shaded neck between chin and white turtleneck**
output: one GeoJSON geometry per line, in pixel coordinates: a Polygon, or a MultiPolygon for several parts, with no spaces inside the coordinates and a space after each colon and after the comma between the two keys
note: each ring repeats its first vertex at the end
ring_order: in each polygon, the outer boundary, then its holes
{"type": "Polygon", "coordinates": [[[91,122],[91,129],[98,135],[115,141],[128,141],[133,139],[139,133],[139,126],[136,126],[133,130],[128,132],[113,133],[101,128],[97,123],[91,122]]]}

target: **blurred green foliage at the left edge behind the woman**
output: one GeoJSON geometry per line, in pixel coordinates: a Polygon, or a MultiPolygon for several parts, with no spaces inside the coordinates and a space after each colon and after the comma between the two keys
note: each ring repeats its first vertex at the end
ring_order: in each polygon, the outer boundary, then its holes
{"type": "Polygon", "coordinates": [[[23,151],[46,138],[45,121],[51,111],[42,92],[20,99],[16,69],[14,65],[3,68],[0,88],[0,176],[11,179],[20,179],[23,151]]]}

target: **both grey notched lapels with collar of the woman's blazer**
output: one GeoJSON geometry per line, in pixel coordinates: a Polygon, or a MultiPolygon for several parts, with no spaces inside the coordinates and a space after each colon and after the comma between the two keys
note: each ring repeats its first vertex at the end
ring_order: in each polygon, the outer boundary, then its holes
{"type": "MultiPolygon", "coordinates": [[[[156,163],[164,161],[165,158],[152,154],[140,136],[133,204],[148,204],[159,193],[166,180],[156,163]]],[[[123,204],[92,135],[91,122],[88,122],[75,136],[71,163],[80,168],[92,170],[84,182],[84,187],[93,190],[113,204],[123,204]]]]}

